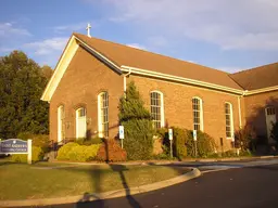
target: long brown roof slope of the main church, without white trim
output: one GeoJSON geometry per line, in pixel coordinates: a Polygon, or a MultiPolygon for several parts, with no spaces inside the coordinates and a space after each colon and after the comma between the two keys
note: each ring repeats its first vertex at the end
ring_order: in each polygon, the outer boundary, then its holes
{"type": "Polygon", "coordinates": [[[81,34],[74,34],[74,36],[108,57],[118,67],[130,66],[242,90],[225,72],[98,38],[89,38],[81,34]]]}

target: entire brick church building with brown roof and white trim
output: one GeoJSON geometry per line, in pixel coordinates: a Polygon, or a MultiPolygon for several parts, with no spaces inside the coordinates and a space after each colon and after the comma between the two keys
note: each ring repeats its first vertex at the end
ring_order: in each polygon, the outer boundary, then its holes
{"type": "Polygon", "coordinates": [[[236,74],[73,34],[41,100],[50,103],[50,140],[118,132],[118,101],[135,81],[156,128],[202,130],[229,148],[251,125],[273,143],[278,110],[278,63],[236,74]]]}

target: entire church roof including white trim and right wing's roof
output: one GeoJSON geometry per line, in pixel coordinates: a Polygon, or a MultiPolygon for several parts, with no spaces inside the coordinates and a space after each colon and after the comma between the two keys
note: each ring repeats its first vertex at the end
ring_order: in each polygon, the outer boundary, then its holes
{"type": "Polygon", "coordinates": [[[228,74],[199,64],[74,32],[41,95],[42,101],[49,102],[51,100],[78,47],[84,48],[108,64],[118,75],[131,73],[241,95],[278,90],[278,63],[228,74]]]}

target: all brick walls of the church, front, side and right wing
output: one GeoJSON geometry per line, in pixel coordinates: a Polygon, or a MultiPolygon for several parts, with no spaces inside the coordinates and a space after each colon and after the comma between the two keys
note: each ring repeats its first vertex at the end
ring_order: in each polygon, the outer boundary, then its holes
{"type": "MultiPolygon", "coordinates": [[[[225,102],[232,104],[233,127],[240,128],[239,103],[241,105],[241,126],[253,123],[261,134],[266,133],[264,108],[266,105],[278,107],[278,93],[269,92],[251,96],[238,96],[193,86],[173,83],[147,77],[130,75],[127,82],[134,80],[146,106],[150,108],[150,92],[159,90],[164,94],[165,123],[168,126],[193,128],[192,98],[203,101],[204,132],[212,135],[218,150],[219,138],[224,138],[224,148],[230,148],[230,140],[226,139],[225,102]]],[[[65,135],[74,139],[76,134],[75,110],[86,106],[88,126],[91,134],[98,131],[98,94],[109,92],[110,138],[118,131],[118,101],[123,95],[123,76],[119,76],[105,64],[79,48],[67,67],[50,102],[50,139],[58,138],[58,107],[65,106],[65,135]]]]}

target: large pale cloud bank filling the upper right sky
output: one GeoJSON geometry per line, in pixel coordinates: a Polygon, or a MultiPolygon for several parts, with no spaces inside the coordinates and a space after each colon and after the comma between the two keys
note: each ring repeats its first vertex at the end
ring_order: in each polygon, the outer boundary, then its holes
{"type": "Polygon", "coordinates": [[[278,50],[277,0],[103,0],[114,22],[132,22],[223,50],[278,50]]]}

